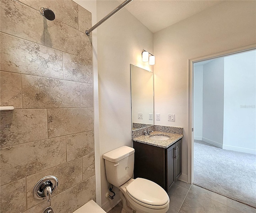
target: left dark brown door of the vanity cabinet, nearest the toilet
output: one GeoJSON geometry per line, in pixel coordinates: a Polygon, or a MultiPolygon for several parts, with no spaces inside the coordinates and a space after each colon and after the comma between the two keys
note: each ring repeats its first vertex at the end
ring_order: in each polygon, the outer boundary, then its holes
{"type": "Polygon", "coordinates": [[[175,145],[172,145],[167,149],[167,162],[166,162],[166,175],[167,175],[167,189],[168,192],[170,191],[170,188],[172,187],[172,184],[175,182],[175,145]]]}

